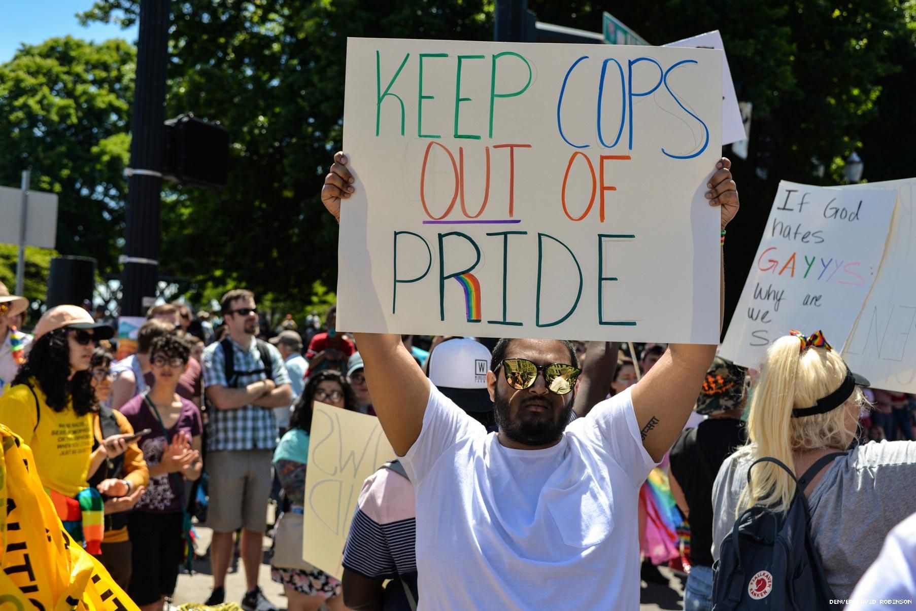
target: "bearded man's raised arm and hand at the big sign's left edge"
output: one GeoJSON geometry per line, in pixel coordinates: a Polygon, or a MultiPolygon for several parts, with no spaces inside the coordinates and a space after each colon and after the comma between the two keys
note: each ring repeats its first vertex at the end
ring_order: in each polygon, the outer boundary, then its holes
{"type": "MultiPolygon", "coordinates": [[[[334,155],[322,188],[322,203],[338,222],[341,202],[354,192],[354,178],[346,164],[346,155],[334,155]]],[[[356,345],[365,363],[365,382],[372,393],[372,408],[391,447],[398,456],[404,456],[420,436],[423,413],[430,400],[430,381],[404,348],[399,335],[357,333],[356,345]]]]}

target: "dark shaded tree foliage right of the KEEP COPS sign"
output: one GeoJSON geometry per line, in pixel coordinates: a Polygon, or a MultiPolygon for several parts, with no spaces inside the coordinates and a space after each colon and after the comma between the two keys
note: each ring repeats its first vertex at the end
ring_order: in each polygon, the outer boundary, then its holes
{"type": "Polygon", "coordinates": [[[868,180],[913,175],[911,137],[903,134],[916,131],[909,103],[914,4],[529,0],[539,20],[591,31],[608,10],[656,45],[721,32],[738,99],[754,104],[747,161],[725,151],[741,194],[741,213],[725,241],[726,327],[780,180],[842,183],[843,160],[853,150],[865,160],[868,180]],[[826,166],[823,177],[812,159],[826,166]],[[758,176],[761,167],[766,177],[758,176]]]}

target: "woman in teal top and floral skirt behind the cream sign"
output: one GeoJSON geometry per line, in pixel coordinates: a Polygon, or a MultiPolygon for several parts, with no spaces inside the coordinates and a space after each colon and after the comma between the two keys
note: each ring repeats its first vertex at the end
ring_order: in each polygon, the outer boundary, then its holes
{"type": "Polygon", "coordinates": [[[302,557],[302,512],[305,502],[305,469],[309,456],[309,435],[314,402],[356,411],[350,384],[338,371],[319,371],[311,376],[289,419],[289,431],[274,452],[274,469],[292,507],[280,516],[274,535],[274,559],[270,576],[283,584],[289,611],[330,611],[345,609],[341,583],[311,566],[302,557]]]}

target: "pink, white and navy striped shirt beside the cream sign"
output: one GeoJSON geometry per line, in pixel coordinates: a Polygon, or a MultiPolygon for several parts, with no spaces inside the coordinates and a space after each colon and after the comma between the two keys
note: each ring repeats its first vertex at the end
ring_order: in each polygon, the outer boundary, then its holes
{"type": "Polygon", "coordinates": [[[409,575],[412,578],[406,581],[414,586],[416,540],[413,486],[390,469],[378,469],[365,479],[359,493],[344,547],[344,567],[368,579],[409,575]]]}

